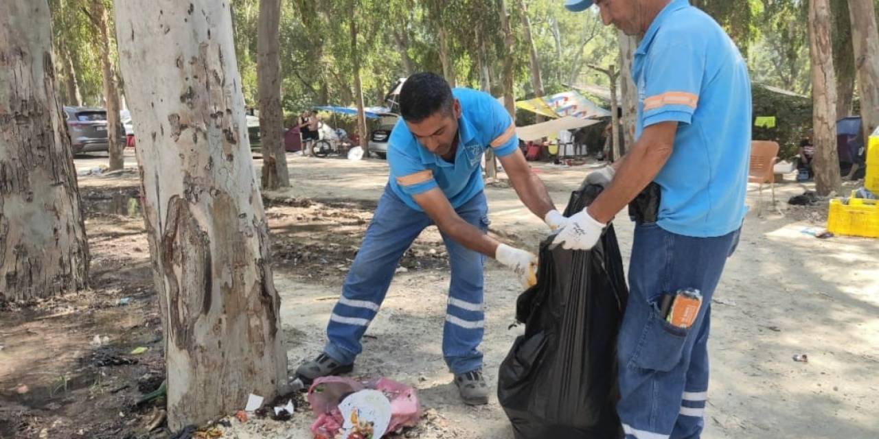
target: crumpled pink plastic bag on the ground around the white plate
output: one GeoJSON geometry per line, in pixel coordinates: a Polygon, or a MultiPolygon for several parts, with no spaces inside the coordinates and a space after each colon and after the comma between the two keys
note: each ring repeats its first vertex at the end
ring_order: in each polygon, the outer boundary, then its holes
{"type": "Polygon", "coordinates": [[[309,388],[308,396],[311,409],[317,415],[317,420],[311,424],[311,432],[315,437],[334,439],[344,423],[338,404],[351,393],[364,389],[374,389],[388,397],[391,407],[389,433],[400,428],[415,427],[421,419],[418,394],[410,385],[388,378],[367,382],[343,377],[317,378],[309,388]]]}

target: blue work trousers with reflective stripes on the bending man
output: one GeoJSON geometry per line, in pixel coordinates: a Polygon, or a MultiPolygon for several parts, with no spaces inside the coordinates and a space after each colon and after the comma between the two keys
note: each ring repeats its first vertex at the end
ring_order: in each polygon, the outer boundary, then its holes
{"type": "MultiPolygon", "coordinates": [[[[455,212],[469,224],[488,231],[488,205],[483,192],[455,212]]],[[[341,364],[350,364],[362,351],[360,337],[378,313],[403,252],[432,220],[396,197],[389,188],[375,209],[372,223],[354,257],[342,286],[342,297],[333,308],[327,326],[324,352],[341,364]]],[[[455,374],[482,367],[483,354],[483,263],[484,256],[464,248],[442,234],[452,266],[442,350],[455,374]]],[[[405,328],[400,328],[405,331],[405,328]]]]}

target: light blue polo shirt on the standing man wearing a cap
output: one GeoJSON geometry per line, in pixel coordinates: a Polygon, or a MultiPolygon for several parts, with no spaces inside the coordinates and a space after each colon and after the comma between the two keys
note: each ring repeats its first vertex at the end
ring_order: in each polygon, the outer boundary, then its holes
{"type": "Polygon", "coordinates": [[[751,154],[751,80],[720,25],[687,0],[665,6],[632,64],[638,90],[636,137],[678,121],[671,158],[655,178],[662,188],[657,224],[695,237],[741,227],[751,154]]]}

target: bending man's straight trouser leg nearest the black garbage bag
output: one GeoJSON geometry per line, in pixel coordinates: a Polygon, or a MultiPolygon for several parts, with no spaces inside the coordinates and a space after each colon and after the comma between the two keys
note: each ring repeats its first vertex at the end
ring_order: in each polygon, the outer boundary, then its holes
{"type": "MultiPolygon", "coordinates": [[[[461,219],[485,232],[488,229],[486,210],[485,196],[480,192],[455,212],[461,219]]],[[[442,238],[452,266],[442,349],[449,369],[460,374],[479,369],[483,364],[483,354],[478,348],[483,341],[485,327],[484,256],[464,248],[446,234],[442,234],[442,238]]]]}

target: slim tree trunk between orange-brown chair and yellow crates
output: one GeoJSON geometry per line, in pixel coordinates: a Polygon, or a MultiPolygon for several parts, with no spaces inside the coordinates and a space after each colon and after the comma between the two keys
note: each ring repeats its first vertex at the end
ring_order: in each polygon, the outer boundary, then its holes
{"type": "Polygon", "coordinates": [[[831,13],[827,0],[809,2],[809,45],[812,66],[812,125],[815,142],[815,187],[819,195],[839,193],[836,148],[836,77],[833,73],[831,13]]]}

